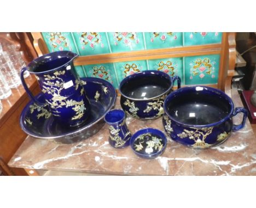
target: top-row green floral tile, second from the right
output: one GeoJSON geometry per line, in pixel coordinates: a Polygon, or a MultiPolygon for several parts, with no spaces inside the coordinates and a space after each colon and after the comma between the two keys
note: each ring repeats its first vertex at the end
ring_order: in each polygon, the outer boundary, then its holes
{"type": "Polygon", "coordinates": [[[183,34],[174,32],[144,33],[147,49],[169,48],[183,45],[183,34]]]}

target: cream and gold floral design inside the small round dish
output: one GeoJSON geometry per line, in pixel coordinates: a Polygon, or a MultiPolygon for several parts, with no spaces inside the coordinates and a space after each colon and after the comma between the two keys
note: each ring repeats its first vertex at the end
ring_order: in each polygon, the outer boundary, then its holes
{"type": "Polygon", "coordinates": [[[152,140],[148,140],[146,142],[147,146],[146,146],[145,151],[147,153],[153,152],[154,149],[158,150],[158,151],[161,151],[161,149],[163,147],[162,139],[159,139],[157,137],[152,136],[151,133],[144,133],[144,134],[141,134],[139,137],[136,138],[136,140],[137,139],[139,140],[139,144],[134,144],[135,151],[140,151],[140,150],[143,149],[142,143],[145,142],[145,137],[151,137],[151,139],[152,139],[152,140]]]}

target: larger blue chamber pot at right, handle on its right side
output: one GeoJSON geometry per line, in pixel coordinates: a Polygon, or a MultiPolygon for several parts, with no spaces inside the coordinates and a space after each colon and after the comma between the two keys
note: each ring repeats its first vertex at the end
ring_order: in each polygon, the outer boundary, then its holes
{"type": "Polygon", "coordinates": [[[162,123],[168,136],[191,148],[205,149],[225,142],[232,131],[245,126],[247,110],[234,109],[228,95],[205,86],[184,87],[173,91],[164,102],[162,123]],[[243,113],[240,125],[232,117],[243,113]]]}

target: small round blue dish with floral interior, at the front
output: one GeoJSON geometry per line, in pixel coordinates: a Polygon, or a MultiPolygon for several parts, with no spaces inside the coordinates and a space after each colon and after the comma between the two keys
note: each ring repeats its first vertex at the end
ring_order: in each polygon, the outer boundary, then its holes
{"type": "Polygon", "coordinates": [[[167,139],[158,129],[142,129],[132,135],[130,146],[135,154],[142,158],[154,159],[166,148],[167,139]]]}

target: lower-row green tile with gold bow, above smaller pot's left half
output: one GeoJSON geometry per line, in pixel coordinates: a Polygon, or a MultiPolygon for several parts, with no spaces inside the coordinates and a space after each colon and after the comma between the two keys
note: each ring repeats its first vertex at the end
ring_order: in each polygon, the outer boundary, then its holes
{"type": "Polygon", "coordinates": [[[129,75],[135,74],[139,71],[148,70],[146,60],[139,60],[135,62],[118,62],[114,63],[114,65],[115,70],[117,71],[119,83],[123,80],[123,78],[129,75]]]}

